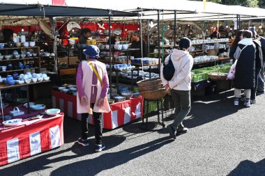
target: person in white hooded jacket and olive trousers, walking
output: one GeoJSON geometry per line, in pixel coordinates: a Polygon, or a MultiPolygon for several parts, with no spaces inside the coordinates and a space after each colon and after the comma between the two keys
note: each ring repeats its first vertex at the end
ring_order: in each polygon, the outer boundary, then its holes
{"type": "MultiPolygon", "coordinates": [[[[167,126],[169,135],[176,139],[176,132],[182,134],[188,131],[182,121],[190,112],[190,89],[191,89],[191,69],[193,58],[189,54],[191,46],[190,39],[181,38],[179,50],[173,49],[171,54],[172,63],[175,68],[174,77],[167,81],[163,77],[163,66],[161,67],[161,79],[165,88],[170,88],[170,93],[174,101],[175,113],[174,122],[167,126]]],[[[165,58],[165,65],[169,62],[170,55],[165,58]]]]}

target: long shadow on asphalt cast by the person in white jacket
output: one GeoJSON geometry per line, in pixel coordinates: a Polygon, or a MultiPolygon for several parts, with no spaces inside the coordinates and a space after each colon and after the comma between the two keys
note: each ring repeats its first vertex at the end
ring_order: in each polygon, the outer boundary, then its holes
{"type": "Polygon", "coordinates": [[[95,159],[77,161],[75,163],[62,166],[61,168],[54,170],[50,175],[76,175],[77,171],[79,176],[97,175],[103,170],[114,168],[123,163],[127,163],[132,159],[141,157],[144,154],[158,150],[163,145],[171,143],[172,141],[173,140],[168,137],[164,137],[126,150],[121,150],[119,152],[103,153],[95,159]]]}

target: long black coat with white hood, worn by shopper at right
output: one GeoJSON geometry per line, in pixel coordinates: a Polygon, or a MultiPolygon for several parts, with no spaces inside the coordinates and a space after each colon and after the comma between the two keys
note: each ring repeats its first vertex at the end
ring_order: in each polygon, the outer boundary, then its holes
{"type": "Polygon", "coordinates": [[[236,63],[234,87],[239,89],[251,89],[255,84],[255,44],[252,39],[245,38],[239,42],[243,49],[236,63]],[[247,45],[247,47],[245,47],[247,45]]]}

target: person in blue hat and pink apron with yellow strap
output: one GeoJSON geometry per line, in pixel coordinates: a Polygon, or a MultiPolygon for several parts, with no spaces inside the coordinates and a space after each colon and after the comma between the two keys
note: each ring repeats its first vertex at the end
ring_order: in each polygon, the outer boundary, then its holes
{"type": "Polygon", "coordinates": [[[96,152],[105,148],[102,143],[102,113],[110,111],[107,101],[109,79],[104,63],[97,61],[100,50],[95,45],[89,45],[84,51],[87,61],[79,63],[77,69],[77,113],[81,113],[82,137],[78,143],[83,146],[89,145],[88,141],[88,118],[93,115],[95,124],[96,152]]]}

